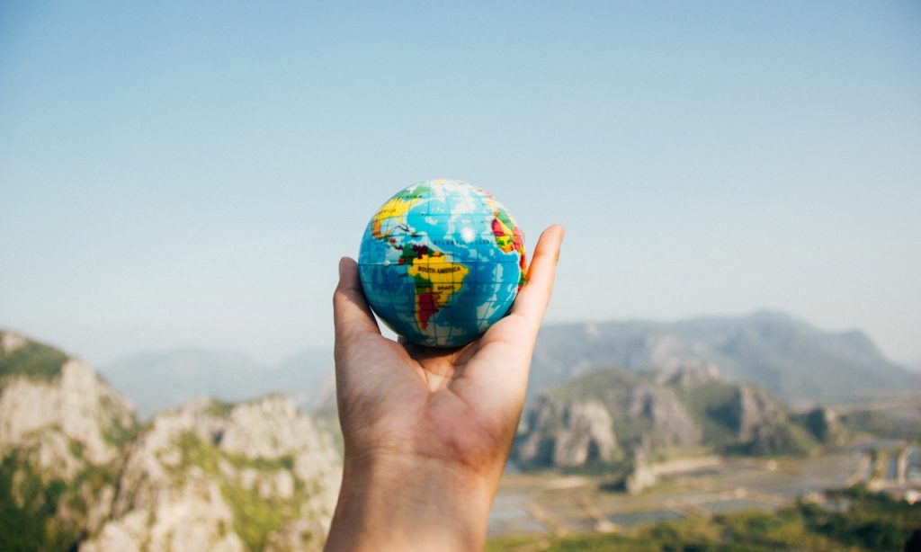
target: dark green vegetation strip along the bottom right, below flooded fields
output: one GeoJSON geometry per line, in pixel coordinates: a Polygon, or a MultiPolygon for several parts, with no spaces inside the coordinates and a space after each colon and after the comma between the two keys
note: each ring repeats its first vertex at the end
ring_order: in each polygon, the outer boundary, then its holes
{"type": "Polygon", "coordinates": [[[827,503],[799,501],[777,512],[691,517],[623,535],[503,537],[486,550],[902,550],[921,527],[910,505],[863,486],[829,491],[827,503]]]}

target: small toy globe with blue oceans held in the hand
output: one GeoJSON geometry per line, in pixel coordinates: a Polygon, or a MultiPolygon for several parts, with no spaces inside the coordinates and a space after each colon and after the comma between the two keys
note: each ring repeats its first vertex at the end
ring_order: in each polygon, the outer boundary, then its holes
{"type": "Polygon", "coordinates": [[[524,283],[524,236],[489,192],[427,180],[371,217],[358,270],[368,304],[394,332],[457,347],[507,315],[524,283]]]}

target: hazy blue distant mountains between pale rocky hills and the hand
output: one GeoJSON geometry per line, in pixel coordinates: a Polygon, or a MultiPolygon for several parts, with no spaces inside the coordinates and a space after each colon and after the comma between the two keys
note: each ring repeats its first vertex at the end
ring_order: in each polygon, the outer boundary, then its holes
{"type": "Polygon", "coordinates": [[[99,372],[144,418],[194,397],[242,401],[270,393],[285,393],[309,412],[332,392],[333,381],[331,351],[302,351],[273,367],[229,352],[142,352],[111,362],[99,372]]]}

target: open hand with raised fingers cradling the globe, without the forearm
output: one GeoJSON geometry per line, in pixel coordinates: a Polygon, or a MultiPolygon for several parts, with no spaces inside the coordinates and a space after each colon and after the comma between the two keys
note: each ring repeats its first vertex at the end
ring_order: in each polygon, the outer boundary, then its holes
{"type": "Polygon", "coordinates": [[[343,259],[333,306],[346,459],[437,461],[497,479],[518,426],[563,234],[559,225],[544,231],[509,315],[450,350],[381,336],[356,262],[343,259]]]}

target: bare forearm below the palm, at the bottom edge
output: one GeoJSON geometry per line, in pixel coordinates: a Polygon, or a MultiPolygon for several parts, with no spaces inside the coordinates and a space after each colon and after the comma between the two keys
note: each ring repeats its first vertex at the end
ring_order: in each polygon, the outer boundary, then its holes
{"type": "Polygon", "coordinates": [[[482,549],[498,475],[431,459],[346,460],[326,549],[482,549]]]}

